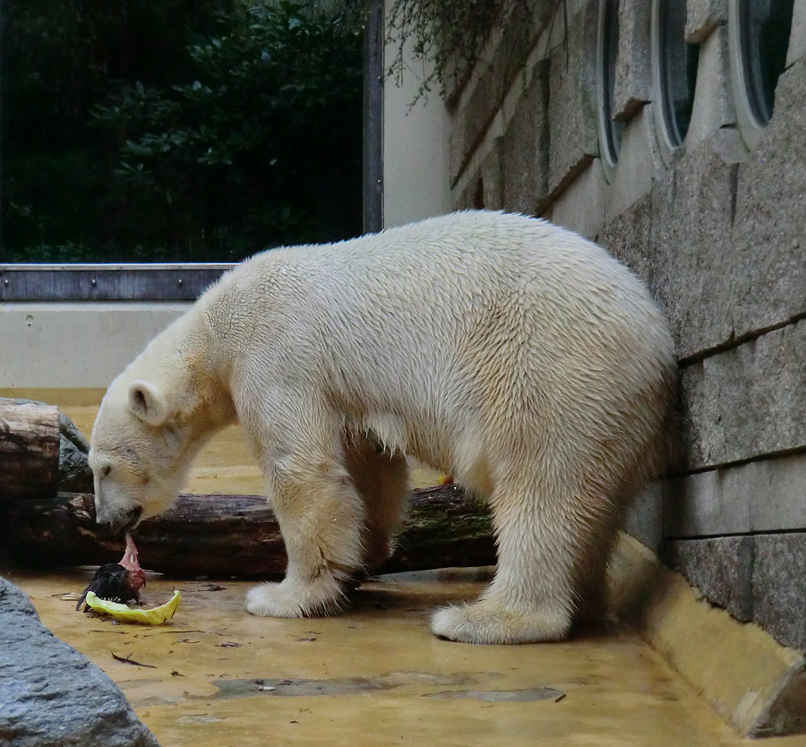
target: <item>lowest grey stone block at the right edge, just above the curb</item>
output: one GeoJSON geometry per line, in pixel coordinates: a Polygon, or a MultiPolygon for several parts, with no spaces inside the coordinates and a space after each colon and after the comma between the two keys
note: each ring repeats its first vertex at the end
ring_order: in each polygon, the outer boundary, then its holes
{"type": "Polygon", "coordinates": [[[753,617],[785,646],[806,650],[806,532],[757,535],[753,617]]]}

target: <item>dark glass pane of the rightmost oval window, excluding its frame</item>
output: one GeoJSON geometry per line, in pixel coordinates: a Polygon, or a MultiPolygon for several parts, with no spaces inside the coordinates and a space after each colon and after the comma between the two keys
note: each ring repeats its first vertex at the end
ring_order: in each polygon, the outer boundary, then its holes
{"type": "Polygon", "coordinates": [[[794,0],[739,3],[738,34],[742,73],[753,116],[767,125],[775,106],[778,77],[786,67],[794,0]]]}

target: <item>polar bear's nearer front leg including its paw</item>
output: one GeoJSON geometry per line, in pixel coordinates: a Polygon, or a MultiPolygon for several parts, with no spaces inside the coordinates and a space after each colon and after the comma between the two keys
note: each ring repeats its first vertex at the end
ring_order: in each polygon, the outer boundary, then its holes
{"type": "Polygon", "coordinates": [[[337,612],[360,572],[364,504],[335,455],[273,469],[272,506],[286,545],[286,578],[249,591],[246,610],[266,617],[337,612]]]}

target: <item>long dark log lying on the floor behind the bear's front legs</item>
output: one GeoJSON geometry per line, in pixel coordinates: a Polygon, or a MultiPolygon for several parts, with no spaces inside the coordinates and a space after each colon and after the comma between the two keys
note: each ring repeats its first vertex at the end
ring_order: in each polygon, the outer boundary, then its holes
{"type": "MultiPolygon", "coordinates": [[[[12,560],[55,567],[117,562],[123,540],[99,537],[91,494],[19,500],[0,506],[12,560]]],[[[176,506],[135,532],[143,568],[173,577],[279,579],[286,551],[277,519],[256,495],[181,495],[176,506]]],[[[398,548],[381,571],[490,565],[490,516],[456,485],[414,491],[398,548]]]]}

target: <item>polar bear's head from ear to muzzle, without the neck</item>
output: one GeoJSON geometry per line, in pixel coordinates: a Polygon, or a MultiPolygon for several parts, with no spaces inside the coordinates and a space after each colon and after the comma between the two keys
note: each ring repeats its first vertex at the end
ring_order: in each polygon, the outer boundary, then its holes
{"type": "Polygon", "coordinates": [[[90,439],[99,526],[116,534],[170,508],[184,482],[193,440],[187,418],[164,387],[118,377],[90,439]]]}

